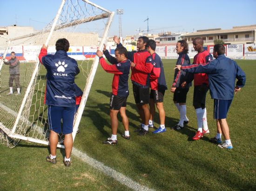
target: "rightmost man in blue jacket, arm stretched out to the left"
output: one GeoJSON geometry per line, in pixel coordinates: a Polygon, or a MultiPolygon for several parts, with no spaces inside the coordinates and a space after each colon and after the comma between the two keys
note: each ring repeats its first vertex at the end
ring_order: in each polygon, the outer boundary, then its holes
{"type": "Polygon", "coordinates": [[[221,148],[232,149],[226,118],[234,97],[234,91],[236,93],[241,90],[241,87],[245,85],[246,77],[236,62],[225,57],[224,53],[225,47],[223,45],[214,45],[213,56],[216,58],[215,60],[205,64],[192,64],[182,67],[177,65],[176,68],[191,73],[208,74],[210,95],[214,99],[214,119],[216,119],[217,125],[216,137],[211,140],[218,143],[221,148]],[[238,79],[237,82],[236,79],[238,79]],[[225,138],[223,143],[222,134],[225,138]]]}

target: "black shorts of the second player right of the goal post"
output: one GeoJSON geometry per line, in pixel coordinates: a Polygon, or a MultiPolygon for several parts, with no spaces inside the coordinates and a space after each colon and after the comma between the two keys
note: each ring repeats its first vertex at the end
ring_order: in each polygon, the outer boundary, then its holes
{"type": "Polygon", "coordinates": [[[141,105],[149,103],[149,88],[140,88],[133,84],[133,95],[135,103],[140,103],[141,105]]]}

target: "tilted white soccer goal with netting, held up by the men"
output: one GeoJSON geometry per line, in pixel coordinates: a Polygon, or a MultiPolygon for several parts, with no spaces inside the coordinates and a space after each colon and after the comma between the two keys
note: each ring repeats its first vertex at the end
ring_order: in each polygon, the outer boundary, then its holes
{"type": "MultiPolygon", "coordinates": [[[[7,39],[0,47],[0,141],[13,147],[19,140],[48,145],[47,106],[44,104],[46,70],[38,55],[48,45],[47,53],[55,53],[55,42],[67,38],[69,57],[77,60],[80,74],[75,83],[84,89],[73,127],[73,140],[79,127],[94,75],[98,66],[97,49],[102,50],[114,12],[88,0],[62,0],[56,17],[41,31],[7,39]],[[15,53],[18,66],[13,75],[10,59],[15,53]]],[[[58,147],[64,147],[59,134],[58,147]]]]}

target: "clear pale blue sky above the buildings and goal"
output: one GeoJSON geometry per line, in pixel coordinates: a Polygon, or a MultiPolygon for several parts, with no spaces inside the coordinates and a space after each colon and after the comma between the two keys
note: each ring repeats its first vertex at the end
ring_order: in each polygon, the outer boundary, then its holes
{"type": "MultiPolygon", "coordinates": [[[[256,0],[91,0],[110,11],[122,8],[123,36],[147,29],[193,32],[200,29],[256,24],[256,0]]],[[[32,26],[42,29],[57,13],[61,0],[1,0],[0,26],[32,26]],[[4,8],[3,8],[4,7],[4,8]]],[[[119,15],[111,26],[109,36],[119,34],[119,15]]]]}

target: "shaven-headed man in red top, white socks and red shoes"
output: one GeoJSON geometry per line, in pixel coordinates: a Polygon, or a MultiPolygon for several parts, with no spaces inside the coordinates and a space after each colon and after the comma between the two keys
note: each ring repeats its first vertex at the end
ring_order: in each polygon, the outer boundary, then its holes
{"type": "MultiPolygon", "coordinates": [[[[204,64],[212,60],[212,55],[208,51],[205,51],[202,45],[202,38],[197,37],[193,40],[193,47],[195,51],[198,52],[194,57],[193,64],[204,64]]],[[[192,80],[193,77],[183,82],[182,87],[185,87],[185,85],[192,82],[192,80]]],[[[193,106],[195,108],[198,129],[195,136],[192,138],[193,140],[199,140],[204,134],[209,134],[205,108],[205,99],[208,90],[209,82],[207,74],[194,74],[193,106]]]]}

